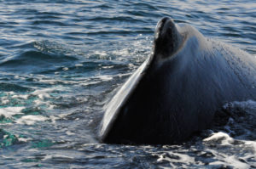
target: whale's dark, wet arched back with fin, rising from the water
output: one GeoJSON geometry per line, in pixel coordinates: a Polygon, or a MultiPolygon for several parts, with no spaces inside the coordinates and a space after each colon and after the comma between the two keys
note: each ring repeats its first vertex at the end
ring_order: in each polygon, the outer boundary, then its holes
{"type": "Polygon", "coordinates": [[[99,137],[111,144],[175,144],[211,127],[231,101],[256,98],[252,55],[159,21],[150,57],[108,104],[99,137]]]}

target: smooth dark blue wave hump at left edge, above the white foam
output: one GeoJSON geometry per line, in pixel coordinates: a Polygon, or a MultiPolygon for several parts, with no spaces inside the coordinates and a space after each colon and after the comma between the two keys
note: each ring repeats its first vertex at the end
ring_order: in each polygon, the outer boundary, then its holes
{"type": "MultiPolygon", "coordinates": [[[[8,56],[0,62],[0,70],[20,70],[31,72],[65,65],[78,60],[73,56],[73,50],[57,42],[41,41],[29,42],[17,46],[23,48],[23,52],[8,56]]],[[[15,48],[15,47],[12,47],[15,48]]]]}

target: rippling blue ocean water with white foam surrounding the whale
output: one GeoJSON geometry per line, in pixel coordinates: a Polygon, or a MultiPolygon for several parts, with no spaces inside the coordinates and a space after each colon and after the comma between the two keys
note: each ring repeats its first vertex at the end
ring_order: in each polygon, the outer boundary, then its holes
{"type": "Polygon", "coordinates": [[[256,101],[177,145],[100,144],[104,105],[164,16],[256,56],[256,3],[0,0],[0,168],[256,168],[256,101]]]}

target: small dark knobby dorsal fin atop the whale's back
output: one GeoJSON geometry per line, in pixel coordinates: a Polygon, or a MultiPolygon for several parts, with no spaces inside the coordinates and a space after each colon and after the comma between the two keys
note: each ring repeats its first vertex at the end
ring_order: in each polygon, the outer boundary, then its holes
{"type": "Polygon", "coordinates": [[[172,56],[180,47],[183,37],[177,25],[169,17],[162,18],[156,25],[154,33],[154,54],[162,58],[172,56]]]}

